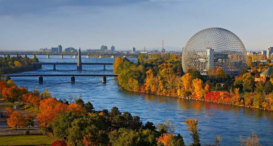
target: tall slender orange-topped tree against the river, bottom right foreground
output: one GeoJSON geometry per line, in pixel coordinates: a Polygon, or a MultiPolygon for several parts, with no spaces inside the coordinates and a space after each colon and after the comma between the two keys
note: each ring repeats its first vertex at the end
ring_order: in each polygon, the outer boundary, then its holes
{"type": "Polygon", "coordinates": [[[197,119],[190,119],[184,121],[188,125],[188,130],[191,131],[191,140],[193,141],[192,146],[200,146],[200,134],[197,128],[198,120],[197,119]]]}

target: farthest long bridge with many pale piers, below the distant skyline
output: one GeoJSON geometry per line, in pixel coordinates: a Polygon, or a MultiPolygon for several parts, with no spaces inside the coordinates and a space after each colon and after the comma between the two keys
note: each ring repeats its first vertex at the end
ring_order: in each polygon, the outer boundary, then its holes
{"type": "MultiPolygon", "coordinates": [[[[50,55],[60,55],[60,58],[63,58],[64,55],[73,55],[73,58],[77,58],[78,52],[0,52],[3,57],[7,55],[46,55],[46,58],[49,58],[50,55]]],[[[120,52],[81,52],[81,55],[86,55],[86,58],[89,56],[97,56],[99,58],[103,58],[103,56],[108,56],[111,58],[115,58],[117,56],[121,57],[138,57],[137,53],[120,53],[120,52]]]]}

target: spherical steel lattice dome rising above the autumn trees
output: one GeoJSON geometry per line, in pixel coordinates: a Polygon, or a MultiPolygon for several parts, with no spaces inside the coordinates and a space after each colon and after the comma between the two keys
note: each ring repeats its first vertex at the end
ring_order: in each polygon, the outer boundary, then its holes
{"type": "Polygon", "coordinates": [[[207,28],[197,32],[182,52],[182,68],[207,74],[220,67],[226,74],[239,74],[247,65],[246,49],[238,36],[222,28],[207,28]]]}

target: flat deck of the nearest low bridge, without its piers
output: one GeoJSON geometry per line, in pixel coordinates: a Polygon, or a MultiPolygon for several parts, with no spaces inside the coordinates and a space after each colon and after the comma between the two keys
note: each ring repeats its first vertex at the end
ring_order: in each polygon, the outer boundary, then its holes
{"type": "Polygon", "coordinates": [[[2,74],[8,77],[24,77],[24,76],[119,76],[119,74],[2,74]]]}

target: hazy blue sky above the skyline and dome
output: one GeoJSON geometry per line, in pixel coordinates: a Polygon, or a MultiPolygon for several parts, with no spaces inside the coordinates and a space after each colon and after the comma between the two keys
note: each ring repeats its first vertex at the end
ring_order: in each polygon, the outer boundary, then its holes
{"type": "Polygon", "coordinates": [[[81,47],[181,50],[209,27],[246,50],[273,46],[271,0],[0,0],[0,50],[81,47]]]}

